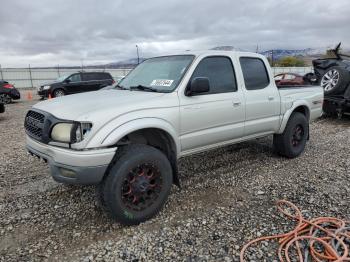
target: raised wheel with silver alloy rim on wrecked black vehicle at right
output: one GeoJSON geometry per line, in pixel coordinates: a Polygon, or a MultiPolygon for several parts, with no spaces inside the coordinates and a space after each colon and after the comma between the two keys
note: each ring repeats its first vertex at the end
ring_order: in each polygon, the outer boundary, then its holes
{"type": "Polygon", "coordinates": [[[344,68],[333,66],[321,78],[325,95],[342,93],[350,82],[350,73],[344,68]]]}

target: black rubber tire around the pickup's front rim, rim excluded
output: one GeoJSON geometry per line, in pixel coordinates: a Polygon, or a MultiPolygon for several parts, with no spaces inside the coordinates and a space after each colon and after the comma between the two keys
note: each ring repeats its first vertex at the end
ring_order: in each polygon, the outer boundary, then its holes
{"type": "Polygon", "coordinates": [[[124,225],[137,225],[154,217],[164,206],[173,183],[172,168],[167,157],[158,149],[147,145],[129,145],[118,148],[99,189],[100,201],[114,220],[124,225]],[[119,152],[118,152],[119,151],[119,152]],[[133,210],[123,201],[123,185],[133,169],[144,164],[157,168],[161,176],[161,189],[154,203],[145,210],[133,210]]]}

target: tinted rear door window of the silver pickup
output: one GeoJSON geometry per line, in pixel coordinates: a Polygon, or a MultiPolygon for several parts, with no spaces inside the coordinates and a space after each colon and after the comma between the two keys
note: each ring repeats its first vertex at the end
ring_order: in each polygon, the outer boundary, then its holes
{"type": "Polygon", "coordinates": [[[263,60],[255,57],[241,57],[239,61],[247,90],[264,89],[270,84],[263,60]]]}

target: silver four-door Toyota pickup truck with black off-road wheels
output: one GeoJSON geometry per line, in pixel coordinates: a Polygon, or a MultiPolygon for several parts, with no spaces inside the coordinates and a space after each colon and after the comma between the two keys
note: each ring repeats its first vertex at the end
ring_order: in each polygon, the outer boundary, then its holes
{"type": "Polygon", "coordinates": [[[98,185],[115,220],[138,224],[180,185],[181,157],[268,135],[299,156],[322,101],[318,86],[278,89],[264,56],[185,52],[146,60],[113,89],[34,105],[26,147],[56,181],[98,185]]]}

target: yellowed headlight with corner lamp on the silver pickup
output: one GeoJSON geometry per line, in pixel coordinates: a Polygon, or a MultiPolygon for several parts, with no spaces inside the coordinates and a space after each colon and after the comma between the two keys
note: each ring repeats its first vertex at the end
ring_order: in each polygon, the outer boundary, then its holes
{"type": "Polygon", "coordinates": [[[78,143],[91,131],[91,123],[59,123],[51,131],[51,139],[63,143],[78,143]]]}

